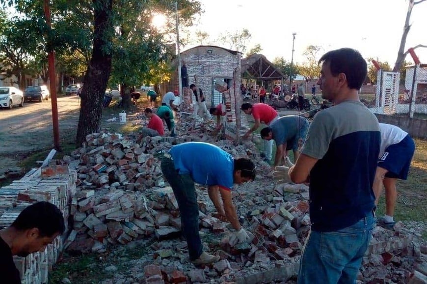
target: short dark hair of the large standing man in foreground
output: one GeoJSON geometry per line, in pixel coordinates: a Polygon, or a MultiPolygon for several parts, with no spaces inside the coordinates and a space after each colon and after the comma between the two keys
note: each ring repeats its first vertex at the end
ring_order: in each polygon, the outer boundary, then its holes
{"type": "Polygon", "coordinates": [[[329,63],[333,76],[346,74],[347,85],[350,89],[359,90],[366,79],[368,65],[359,51],[352,48],[340,48],[323,54],[320,63],[329,63]]]}

